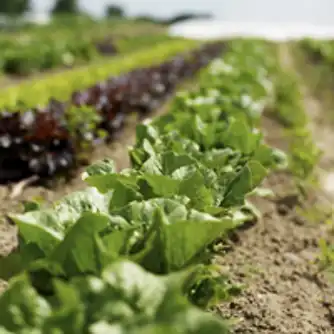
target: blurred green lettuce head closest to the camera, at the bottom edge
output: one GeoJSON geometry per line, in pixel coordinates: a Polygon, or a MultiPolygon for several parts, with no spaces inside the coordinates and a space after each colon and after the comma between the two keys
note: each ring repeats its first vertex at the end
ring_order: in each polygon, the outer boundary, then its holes
{"type": "Polygon", "coordinates": [[[52,299],[19,276],[0,299],[0,333],[228,333],[224,322],[181,296],[190,274],[158,277],[115,262],[101,277],[56,281],[52,299]]]}

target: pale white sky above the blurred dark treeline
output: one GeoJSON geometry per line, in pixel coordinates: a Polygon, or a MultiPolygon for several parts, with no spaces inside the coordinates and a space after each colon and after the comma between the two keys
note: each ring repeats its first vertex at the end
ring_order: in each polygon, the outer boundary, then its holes
{"type": "MultiPolygon", "coordinates": [[[[0,0],[1,1],[1,0],[0,0]]],[[[37,11],[52,0],[32,0],[37,11]]],[[[101,15],[107,4],[119,4],[127,13],[166,17],[181,11],[212,12],[232,21],[274,21],[334,24],[334,0],[81,0],[82,8],[101,15]]]]}

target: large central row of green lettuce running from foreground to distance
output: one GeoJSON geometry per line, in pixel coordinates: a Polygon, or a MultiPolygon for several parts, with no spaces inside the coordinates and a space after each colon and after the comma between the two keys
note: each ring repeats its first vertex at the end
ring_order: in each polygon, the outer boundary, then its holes
{"type": "Polygon", "coordinates": [[[202,309],[237,290],[215,245],[254,219],[247,196],[286,166],[258,129],[276,65],[265,42],[229,42],[169,113],[138,125],[131,168],[96,162],[86,190],[11,214],[20,245],[0,263],[0,332],[228,333],[202,309]]]}

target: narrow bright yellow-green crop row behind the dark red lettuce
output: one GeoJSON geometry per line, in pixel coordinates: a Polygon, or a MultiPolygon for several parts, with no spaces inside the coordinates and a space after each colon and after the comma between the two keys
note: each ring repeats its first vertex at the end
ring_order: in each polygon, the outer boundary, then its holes
{"type": "Polygon", "coordinates": [[[131,71],[138,67],[157,65],[180,52],[190,50],[199,43],[174,39],[158,43],[148,50],[138,50],[112,59],[92,63],[63,73],[36,78],[1,89],[0,109],[19,110],[46,105],[51,98],[70,99],[72,93],[86,89],[97,81],[131,71]]]}

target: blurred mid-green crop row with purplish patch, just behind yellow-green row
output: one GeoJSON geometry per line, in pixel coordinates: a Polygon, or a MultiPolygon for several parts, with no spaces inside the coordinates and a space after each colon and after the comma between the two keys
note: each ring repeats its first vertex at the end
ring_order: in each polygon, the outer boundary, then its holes
{"type": "Polygon", "coordinates": [[[0,72],[28,75],[49,69],[73,67],[103,57],[144,49],[155,43],[171,39],[166,35],[134,36],[114,39],[108,35],[100,39],[74,36],[72,39],[45,37],[35,42],[21,39],[1,41],[0,72]]]}

